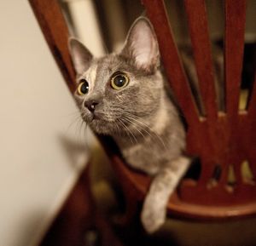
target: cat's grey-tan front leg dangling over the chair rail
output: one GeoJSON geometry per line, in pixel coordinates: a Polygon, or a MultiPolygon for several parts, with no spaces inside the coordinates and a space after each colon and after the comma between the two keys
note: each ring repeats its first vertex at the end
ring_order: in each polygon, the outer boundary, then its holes
{"type": "Polygon", "coordinates": [[[143,203],[141,219],[145,230],[155,232],[166,220],[166,206],[179,180],[189,167],[188,157],[177,157],[156,174],[143,203]]]}

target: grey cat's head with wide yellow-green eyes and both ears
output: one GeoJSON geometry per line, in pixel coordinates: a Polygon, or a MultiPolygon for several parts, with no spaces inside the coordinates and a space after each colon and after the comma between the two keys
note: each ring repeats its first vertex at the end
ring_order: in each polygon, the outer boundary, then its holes
{"type": "Polygon", "coordinates": [[[135,21],[119,54],[94,58],[77,39],[69,41],[77,72],[74,97],[84,121],[98,134],[121,134],[131,124],[154,117],[163,82],[154,30],[135,21]]]}

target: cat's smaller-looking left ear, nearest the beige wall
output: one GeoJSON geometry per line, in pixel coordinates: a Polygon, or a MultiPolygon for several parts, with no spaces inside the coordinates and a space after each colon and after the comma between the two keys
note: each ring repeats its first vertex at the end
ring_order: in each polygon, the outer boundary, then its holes
{"type": "Polygon", "coordinates": [[[83,74],[90,66],[90,61],[93,58],[92,54],[83,43],[74,37],[69,38],[68,47],[77,74],[83,74]]]}

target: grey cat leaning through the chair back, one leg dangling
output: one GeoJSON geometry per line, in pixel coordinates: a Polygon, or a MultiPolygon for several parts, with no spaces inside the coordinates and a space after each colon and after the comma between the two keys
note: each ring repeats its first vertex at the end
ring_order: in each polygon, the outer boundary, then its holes
{"type": "Polygon", "coordinates": [[[74,38],[69,48],[84,121],[97,134],[112,136],[131,167],[154,177],[141,218],[146,231],[155,232],[189,158],[183,156],[183,123],[164,89],[153,28],[146,18],[137,19],[122,51],[99,59],[74,38]]]}

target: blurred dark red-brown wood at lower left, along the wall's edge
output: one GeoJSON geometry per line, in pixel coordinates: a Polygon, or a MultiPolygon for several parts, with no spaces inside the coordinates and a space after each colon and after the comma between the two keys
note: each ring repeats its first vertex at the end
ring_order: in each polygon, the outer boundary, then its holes
{"type": "Polygon", "coordinates": [[[85,232],[95,226],[95,215],[96,209],[89,186],[89,169],[86,168],[39,245],[80,245],[84,241],[85,232]]]}

